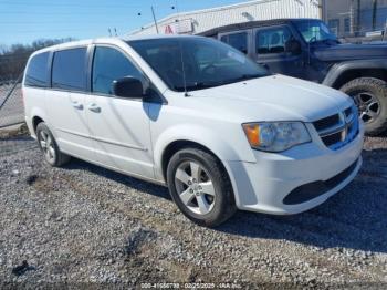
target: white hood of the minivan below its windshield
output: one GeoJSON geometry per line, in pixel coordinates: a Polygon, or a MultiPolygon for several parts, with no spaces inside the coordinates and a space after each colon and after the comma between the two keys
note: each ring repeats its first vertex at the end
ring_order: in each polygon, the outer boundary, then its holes
{"type": "Polygon", "coordinates": [[[320,84],[272,75],[190,92],[207,113],[242,122],[316,120],[344,111],[353,101],[344,93],[320,84]]]}

